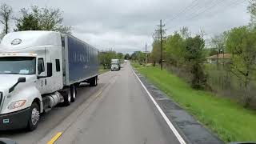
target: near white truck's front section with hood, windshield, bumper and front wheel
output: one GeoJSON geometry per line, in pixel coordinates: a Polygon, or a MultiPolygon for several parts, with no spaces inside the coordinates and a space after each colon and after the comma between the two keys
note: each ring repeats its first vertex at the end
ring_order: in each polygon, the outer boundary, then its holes
{"type": "MultiPolygon", "coordinates": [[[[46,76],[45,74],[42,76],[42,70],[44,70],[42,67],[38,54],[0,54],[0,79],[2,80],[0,128],[2,130],[25,127],[28,125],[29,117],[32,125],[38,122],[39,114],[43,110],[41,94],[46,86],[44,82],[46,76]],[[33,109],[30,109],[33,102],[36,105],[34,104],[33,109]]],[[[50,73],[49,69],[47,74],[50,73]]]]}

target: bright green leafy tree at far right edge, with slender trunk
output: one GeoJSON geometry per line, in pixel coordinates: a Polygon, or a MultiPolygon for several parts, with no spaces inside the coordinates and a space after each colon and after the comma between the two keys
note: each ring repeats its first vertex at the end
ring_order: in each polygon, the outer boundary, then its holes
{"type": "Polygon", "coordinates": [[[255,74],[256,30],[240,26],[230,30],[226,41],[227,50],[233,54],[230,71],[241,79],[244,87],[244,106],[249,106],[252,95],[249,84],[255,74]]]}

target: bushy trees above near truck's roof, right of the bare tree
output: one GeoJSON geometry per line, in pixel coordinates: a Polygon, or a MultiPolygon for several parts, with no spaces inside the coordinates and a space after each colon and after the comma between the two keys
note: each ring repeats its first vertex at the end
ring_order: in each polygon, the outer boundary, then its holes
{"type": "Polygon", "coordinates": [[[63,25],[62,11],[54,8],[32,6],[31,10],[22,9],[22,17],[16,19],[17,28],[22,30],[51,30],[70,34],[71,27],[63,25]],[[32,26],[32,28],[30,27],[32,26]]]}

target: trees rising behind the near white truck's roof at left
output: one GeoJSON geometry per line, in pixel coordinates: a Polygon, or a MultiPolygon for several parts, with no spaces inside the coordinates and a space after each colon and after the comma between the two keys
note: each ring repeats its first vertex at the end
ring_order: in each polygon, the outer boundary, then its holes
{"type": "Polygon", "coordinates": [[[19,16],[14,17],[11,6],[5,3],[0,6],[0,23],[3,27],[0,38],[11,31],[23,30],[51,30],[71,34],[71,26],[63,24],[63,12],[58,8],[31,6],[22,8],[16,15],[19,16]],[[14,28],[11,27],[12,22],[15,23],[14,28]]]}

